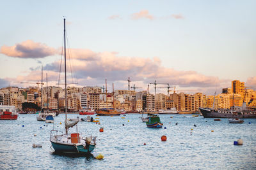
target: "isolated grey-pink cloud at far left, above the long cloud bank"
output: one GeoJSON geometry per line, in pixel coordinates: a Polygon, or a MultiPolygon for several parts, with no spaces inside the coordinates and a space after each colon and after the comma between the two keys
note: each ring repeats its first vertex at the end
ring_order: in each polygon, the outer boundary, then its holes
{"type": "Polygon", "coordinates": [[[0,53],[8,55],[9,57],[18,58],[43,58],[50,55],[54,55],[57,51],[42,43],[36,43],[32,40],[23,41],[22,43],[17,43],[14,46],[3,45],[1,47],[0,53]]]}

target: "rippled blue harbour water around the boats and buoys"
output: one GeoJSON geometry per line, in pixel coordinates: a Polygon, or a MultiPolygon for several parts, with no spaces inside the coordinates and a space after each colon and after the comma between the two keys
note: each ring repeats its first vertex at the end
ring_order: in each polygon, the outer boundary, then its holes
{"type": "MultiPolygon", "coordinates": [[[[149,129],[140,116],[99,117],[100,125],[79,123],[82,134],[97,136],[92,153],[101,153],[103,160],[52,154],[53,124],[36,121],[36,115],[1,120],[0,169],[256,169],[256,119],[228,124],[224,118],[216,122],[200,116],[160,115],[166,129],[149,129]],[[99,132],[100,127],[104,132],[99,132]],[[239,138],[243,145],[234,146],[239,138]],[[41,143],[42,148],[32,148],[33,143],[41,143]]],[[[55,118],[55,129],[64,131],[64,118],[55,118]]]]}

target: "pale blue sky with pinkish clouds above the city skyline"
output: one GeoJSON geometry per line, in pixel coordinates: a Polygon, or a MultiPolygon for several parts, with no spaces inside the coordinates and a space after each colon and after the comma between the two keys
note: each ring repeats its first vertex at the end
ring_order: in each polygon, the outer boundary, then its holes
{"type": "Polygon", "coordinates": [[[168,83],[213,95],[232,80],[256,90],[254,0],[0,3],[0,88],[36,86],[42,66],[44,81],[47,73],[48,85],[57,86],[65,16],[75,87],[102,87],[107,79],[108,88],[127,89],[130,78],[136,91],[156,80],[165,94],[168,83]]]}

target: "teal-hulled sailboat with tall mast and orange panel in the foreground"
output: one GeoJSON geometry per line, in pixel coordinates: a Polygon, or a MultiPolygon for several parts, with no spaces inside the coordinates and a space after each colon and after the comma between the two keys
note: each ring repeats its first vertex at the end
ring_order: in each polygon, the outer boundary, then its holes
{"type": "Polygon", "coordinates": [[[65,32],[65,18],[64,18],[64,56],[65,56],[65,134],[55,129],[52,129],[50,141],[52,148],[56,153],[75,153],[88,154],[92,152],[96,145],[95,136],[81,136],[77,132],[77,123],[68,121],[67,119],[67,71],[66,71],[66,32],[65,32]],[[76,133],[68,133],[70,127],[76,125],[76,133]]]}

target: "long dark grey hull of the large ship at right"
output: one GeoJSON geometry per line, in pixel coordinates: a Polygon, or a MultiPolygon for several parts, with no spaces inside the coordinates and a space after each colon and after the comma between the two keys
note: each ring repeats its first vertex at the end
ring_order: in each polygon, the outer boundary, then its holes
{"type": "Polygon", "coordinates": [[[199,108],[204,118],[256,118],[255,111],[241,111],[232,113],[232,111],[227,111],[227,113],[220,113],[215,110],[207,108],[199,108]]]}

